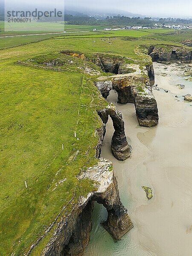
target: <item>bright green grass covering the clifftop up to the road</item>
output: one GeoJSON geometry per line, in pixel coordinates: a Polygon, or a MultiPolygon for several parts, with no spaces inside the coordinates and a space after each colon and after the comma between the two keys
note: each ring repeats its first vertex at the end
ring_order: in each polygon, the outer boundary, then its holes
{"type": "Polygon", "coordinates": [[[91,181],[76,176],[97,161],[102,122],[96,111],[108,105],[91,78],[110,74],[73,56],[62,55],[62,70],[44,69],[46,61],[73,49],[90,59],[96,52],[120,55],[142,69],[151,63],[143,45],[180,46],[163,41],[164,35],[140,38],[145,33],[61,36],[0,51],[0,255],[23,255],[42,236],[30,254],[40,255],[61,216],[70,214],[79,195],[94,190],[91,181]],[[81,72],[84,64],[96,73],[81,72]]]}

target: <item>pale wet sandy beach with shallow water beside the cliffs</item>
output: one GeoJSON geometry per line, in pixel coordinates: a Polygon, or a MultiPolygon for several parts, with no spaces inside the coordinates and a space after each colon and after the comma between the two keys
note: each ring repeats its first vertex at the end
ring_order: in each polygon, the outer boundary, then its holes
{"type": "Polygon", "coordinates": [[[175,65],[166,70],[163,64],[154,63],[154,67],[155,84],[163,88],[154,90],[160,115],[157,127],[140,127],[133,104],[117,104],[114,91],[108,97],[122,112],[133,152],[125,162],[113,157],[110,120],[102,157],[113,162],[120,197],[134,228],[122,240],[114,241],[100,224],[107,212],[96,204],[84,256],[192,256],[192,102],[175,97],[192,94],[192,82],[178,76],[180,70],[175,65]],[[180,90],[177,84],[186,87],[180,90]],[[141,186],[152,188],[151,200],[141,186]]]}

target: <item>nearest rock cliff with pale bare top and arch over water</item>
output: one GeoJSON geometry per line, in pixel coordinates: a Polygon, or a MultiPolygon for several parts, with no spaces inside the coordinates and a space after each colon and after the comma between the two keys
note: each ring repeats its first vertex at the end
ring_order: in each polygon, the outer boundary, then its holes
{"type": "Polygon", "coordinates": [[[93,180],[96,191],[90,192],[87,197],[81,196],[67,218],[61,218],[41,256],[83,255],[90,239],[94,201],[107,209],[108,218],[103,226],[114,239],[121,239],[133,228],[127,209],[119,198],[111,161],[100,158],[97,165],[81,172],[79,179],[93,180]]]}

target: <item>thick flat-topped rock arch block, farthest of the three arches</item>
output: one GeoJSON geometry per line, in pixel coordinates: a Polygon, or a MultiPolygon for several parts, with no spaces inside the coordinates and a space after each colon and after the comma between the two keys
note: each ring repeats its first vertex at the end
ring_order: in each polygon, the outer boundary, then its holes
{"type": "MultiPolygon", "coordinates": [[[[141,126],[156,126],[159,120],[158,108],[151,87],[154,84],[154,70],[152,66],[148,66],[143,70],[144,73],[141,73],[136,66],[134,65],[137,69],[135,73],[111,76],[112,88],[118,93],[118,103],[134,103],[136,116],[141,126]],[[151,74],[151,81],[148,73],[151,74]]],[[[105,79],[105,77],[100,77],[96,83],[99,82],[105,86],[105,79]]]]}

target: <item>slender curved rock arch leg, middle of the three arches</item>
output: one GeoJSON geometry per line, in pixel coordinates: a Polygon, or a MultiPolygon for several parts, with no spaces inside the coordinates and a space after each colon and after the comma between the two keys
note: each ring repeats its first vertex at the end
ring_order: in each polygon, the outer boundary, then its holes
{"type": "Polygon", "coordinates": [[[98,111],[98,114],[104,125],[107,124],[109,116],[113,121],[115,130],[111,140],[113,156],[119,161],[124,161],[131,157],[131,145],[128,144],[125,136],[125,124],[122,119],[122,113],[113,104],[110,104],[108,108],[98,111]]]}

